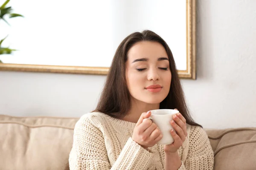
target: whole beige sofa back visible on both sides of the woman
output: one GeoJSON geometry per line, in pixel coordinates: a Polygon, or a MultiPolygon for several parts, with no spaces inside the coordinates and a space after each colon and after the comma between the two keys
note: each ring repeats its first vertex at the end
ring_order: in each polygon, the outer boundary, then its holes
{"type": "MultiPolygon", "coordinates": [[[[0,170],[68,170],[77,121],[0,115],[0,170]]],[[[206,131],[215,170],[256,170],[256,127],[206,131]]]]}

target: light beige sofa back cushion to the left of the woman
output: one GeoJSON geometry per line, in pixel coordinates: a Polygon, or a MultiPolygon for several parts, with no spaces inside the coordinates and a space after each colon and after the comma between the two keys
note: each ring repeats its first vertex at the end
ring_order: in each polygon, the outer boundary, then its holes
{"type": "Polygon", "coordinates": [[[0,115],[1,170],[65,170],[78,118],[0,115]]]}

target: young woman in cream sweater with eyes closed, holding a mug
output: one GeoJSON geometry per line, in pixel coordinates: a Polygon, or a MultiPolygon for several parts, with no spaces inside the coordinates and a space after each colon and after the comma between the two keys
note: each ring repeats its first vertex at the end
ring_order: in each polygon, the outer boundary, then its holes
{"type": "Polygon", "coordinates": [[[135,32],[116,50],[101,98],[74,129],[70,170],[212,170],[207,134],[186,107],[172,52],[152,31],[135,32]],[[177,109],[174,143],[156,144],[154,109],[177,109]],[[145,119],[145,121],[143,121],[145,119]]]}

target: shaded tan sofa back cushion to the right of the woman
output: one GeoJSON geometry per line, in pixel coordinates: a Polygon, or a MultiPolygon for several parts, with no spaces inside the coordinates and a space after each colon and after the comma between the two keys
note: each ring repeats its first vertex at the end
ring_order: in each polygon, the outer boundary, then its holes
{"type": "Polygon", "coordinates": [[[256,170],[256,128],[206,130],[215,170],[256,170]]]}

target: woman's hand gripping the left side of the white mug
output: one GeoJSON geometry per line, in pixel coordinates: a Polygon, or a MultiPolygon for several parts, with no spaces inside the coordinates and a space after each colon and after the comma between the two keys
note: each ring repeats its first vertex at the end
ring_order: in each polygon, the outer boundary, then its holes
{"type": "Polygon", "coordinates": [[[142,113],[132,134],[132,139],[145,149],[154,146],[163,137],[157,125],[154,124],[151,119],[145,119],[150,116],[151,112],[142,113]]]}

